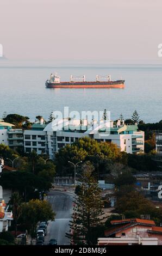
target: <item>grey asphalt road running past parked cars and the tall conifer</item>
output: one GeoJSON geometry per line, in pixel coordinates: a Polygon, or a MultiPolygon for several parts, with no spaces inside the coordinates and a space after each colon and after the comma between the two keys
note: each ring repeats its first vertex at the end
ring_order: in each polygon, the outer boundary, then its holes
{"type": "Polygon", "coordinates": [[[70,245],[65,233],[70,230],[69,221],[72,215],[73,194],[51,191],[47,199],[56,213],[55,221],[50,221],[45,236],[45,245],[50,239],[57,239],[58,245],[70,245]]]}

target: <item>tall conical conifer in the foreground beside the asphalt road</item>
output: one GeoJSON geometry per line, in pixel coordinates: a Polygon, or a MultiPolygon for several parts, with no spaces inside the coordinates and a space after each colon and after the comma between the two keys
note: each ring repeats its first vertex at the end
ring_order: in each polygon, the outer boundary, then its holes
{"type": "Polygon", "coordinates": [[[70,224],[71,234],[67,235],[74,245],[92,244],[91,230],[101,225],[103,215],[101,190],[91,175],[91,167],[85,167],[84,170],[84,181],[82,180],[82,186],[74,202],[73,220],[70,224]]]}

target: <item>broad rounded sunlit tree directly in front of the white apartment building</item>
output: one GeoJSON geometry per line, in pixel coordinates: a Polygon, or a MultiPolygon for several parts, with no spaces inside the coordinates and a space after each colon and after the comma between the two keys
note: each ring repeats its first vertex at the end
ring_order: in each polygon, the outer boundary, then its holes
{"type": "MultiPolygon", "coordinates": [[[[73,167],[68,164],[68,161],[77,163],[79,161],[90,161],[94,164],[96,172],[98,172],[100,161],[102,168],[107,161],[115,161],[121,159],[122,154],[120,149],[113,143],[97,142],[95,139],[88,137],[80,138],[77,142],[71,145],[66,145],[65,148],[59,150],[55,156],[57,173],[72,174],[73,167]]],[[[100,166],[101,166],[100,165],[100,166]]]]}

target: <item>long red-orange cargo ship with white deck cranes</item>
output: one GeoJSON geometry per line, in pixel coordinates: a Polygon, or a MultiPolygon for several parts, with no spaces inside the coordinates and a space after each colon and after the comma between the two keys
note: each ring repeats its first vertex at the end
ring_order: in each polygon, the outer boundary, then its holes
{"type": "Polygon", "coordinates": [[[47,88],[124,88],[124,80],[111,81],[111,76],[96,75],[96,81],[86,81],[85,75],[81,77],[73,77],[71,75],[70,82],[60,82],[60,76],[51,74],[46,81],[47,88]],[[102,79],[102,80],[101,80],[102,79]]]}

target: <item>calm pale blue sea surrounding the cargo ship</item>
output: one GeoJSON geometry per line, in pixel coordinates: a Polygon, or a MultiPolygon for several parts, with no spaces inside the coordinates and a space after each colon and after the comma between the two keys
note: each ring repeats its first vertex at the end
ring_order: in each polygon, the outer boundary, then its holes
{"type": "Polygon", "coordinates": [[[162,119],[162,65],[64,63],[56,61],[0,61],[0,118],[4,111],[36,115],[48,119],[51,111],[103,111],[111,119],[130,118],[136,109],[145,122],[162,119]],[[109,75],[112,80],[124,79],[124,89],[48,89],[45,81],[51,72],[58,72],[61,81],[70,75],[86,75],[94,81],[96,74],[109,75]]]}

